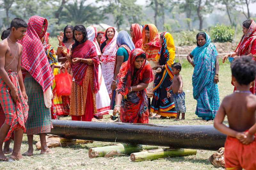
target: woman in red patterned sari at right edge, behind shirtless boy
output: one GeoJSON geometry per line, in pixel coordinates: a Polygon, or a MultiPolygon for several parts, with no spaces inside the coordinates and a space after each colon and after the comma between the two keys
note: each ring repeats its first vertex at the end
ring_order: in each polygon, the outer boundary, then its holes
{"type": "MultiPolygon", "coordinates": [[[[240,58],[242,56],[250,56],[252,57],[253,60],[255,60],[256,56],[256,23],[252,19],[247,19],[243,22],[243,33],[244,35],[242,36],[236,51],[230,54],[225,55],[222,58],[222,62],[224,63],[227,61],[228,57],[234,57],[235,60],[237,58],[240,58]]],[[[233,82],[231,82],[232,85],[233,82]]],[[[236,90],[236,87],[234,88],[234,91],[236,90]]],[[[256,87],[255,87],[255,82],[251,85],[250,91],[255,93],[256,87]]]]}

